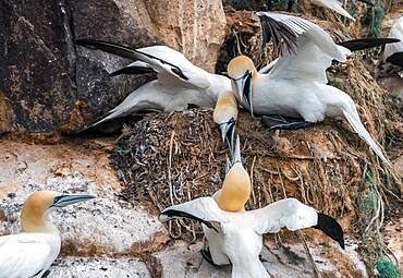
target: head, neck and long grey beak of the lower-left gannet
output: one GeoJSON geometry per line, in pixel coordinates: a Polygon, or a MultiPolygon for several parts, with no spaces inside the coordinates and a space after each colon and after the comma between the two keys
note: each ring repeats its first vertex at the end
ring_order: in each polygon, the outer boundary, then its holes
{"type": "Polygon", "coordinates": [[[46,217],[53,208],[64,207],[78,202],[95,198],[90,195],[66,195],[54,191],[37,191],[25,201],[21,213],[21,226],[24,232],[49,232],[46,217]]]}

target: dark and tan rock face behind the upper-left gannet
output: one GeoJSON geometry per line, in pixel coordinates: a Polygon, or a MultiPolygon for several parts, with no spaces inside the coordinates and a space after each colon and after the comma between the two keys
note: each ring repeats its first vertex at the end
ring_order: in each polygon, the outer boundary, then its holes
{"type": "Polygon", "coordinates": [[[0,25],[0,133],[52,133],[77,130],[147,81],[109,77],[129,61],[76,48],[74,38],[166,44],[212,71],[225,17],[218,0],[4,0],[0,25]]]}

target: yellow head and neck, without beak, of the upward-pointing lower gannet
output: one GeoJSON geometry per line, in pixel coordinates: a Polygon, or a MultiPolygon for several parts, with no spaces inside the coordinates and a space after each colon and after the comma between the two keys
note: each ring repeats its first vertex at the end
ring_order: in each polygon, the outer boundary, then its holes
{"type": "Polygon", "coordinates": [[[227,211],[242,211],[251,195],[251,179],[242,164],[232,166],[227,173],[219,196],[218,206],[227,211]]]}

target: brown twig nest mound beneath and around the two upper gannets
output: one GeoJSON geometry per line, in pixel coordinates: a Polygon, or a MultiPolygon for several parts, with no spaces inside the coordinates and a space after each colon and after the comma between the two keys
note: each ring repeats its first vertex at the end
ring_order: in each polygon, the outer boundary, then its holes
{"type": "MultiPolygon", "coordinates": [[[[223,65],[240,53],[248,55],[257,67],[274,59],[269,48],[261,52],[259,23],[252,12],[225,12],[229,27],[217,72],[225,72],[223,65]]],[[[352,33],[340,21],[309,20],[335,41],[352,33]]],[[[380,145],[390,148],[401,142],[402,112],[388,101],[359,53],[347,63],[334,64],[328,77],[331,85],[355,100],[364,125],[380,145]]],[[[327,120],[306,130],[272,132],[247,112],[239,118],[236,132],[243,162],[253,183],[246,208],[296,197],[337,217],[344,228],[352,228],[350,231],[363,239],[361,245],[369,256],[364,258],[373,269],[379,254],[384,253],[380,237],[383,207],[391,195],[400,200],[402,178],[386,168],[343,119],[327,120]],[[353,221],[358,225],[351,225],[353,221]]],[[[122,197],[133,203],[149,202],[160,211],[219,190],[228,155],[212,110],[192,110],[154,113],[125,126],[112,162],[122,181],[122,197]]],[[[202,232],[199,226],[186,220],[169,223],[168,228],[173,238],[194,240],[202,232]]]]}

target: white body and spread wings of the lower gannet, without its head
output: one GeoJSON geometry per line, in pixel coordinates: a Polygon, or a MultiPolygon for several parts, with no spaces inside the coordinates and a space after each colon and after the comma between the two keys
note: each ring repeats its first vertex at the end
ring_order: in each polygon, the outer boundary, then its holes
{"type": "Polygon", "coordinates": [[[215,234],[215,241],[208,239],[212,262],[216,265],[231,263],[232,278],[270,277],[259,261],[262,234],[278,232],[283,227],[291,231],[319,229],[344,249],[340,225],[295,198],[284,198],[260,209],[230,213],[221,209],[212,197],[199,197],[166,208],[160,220],[183,217],[202,222],[215,234]]]}

